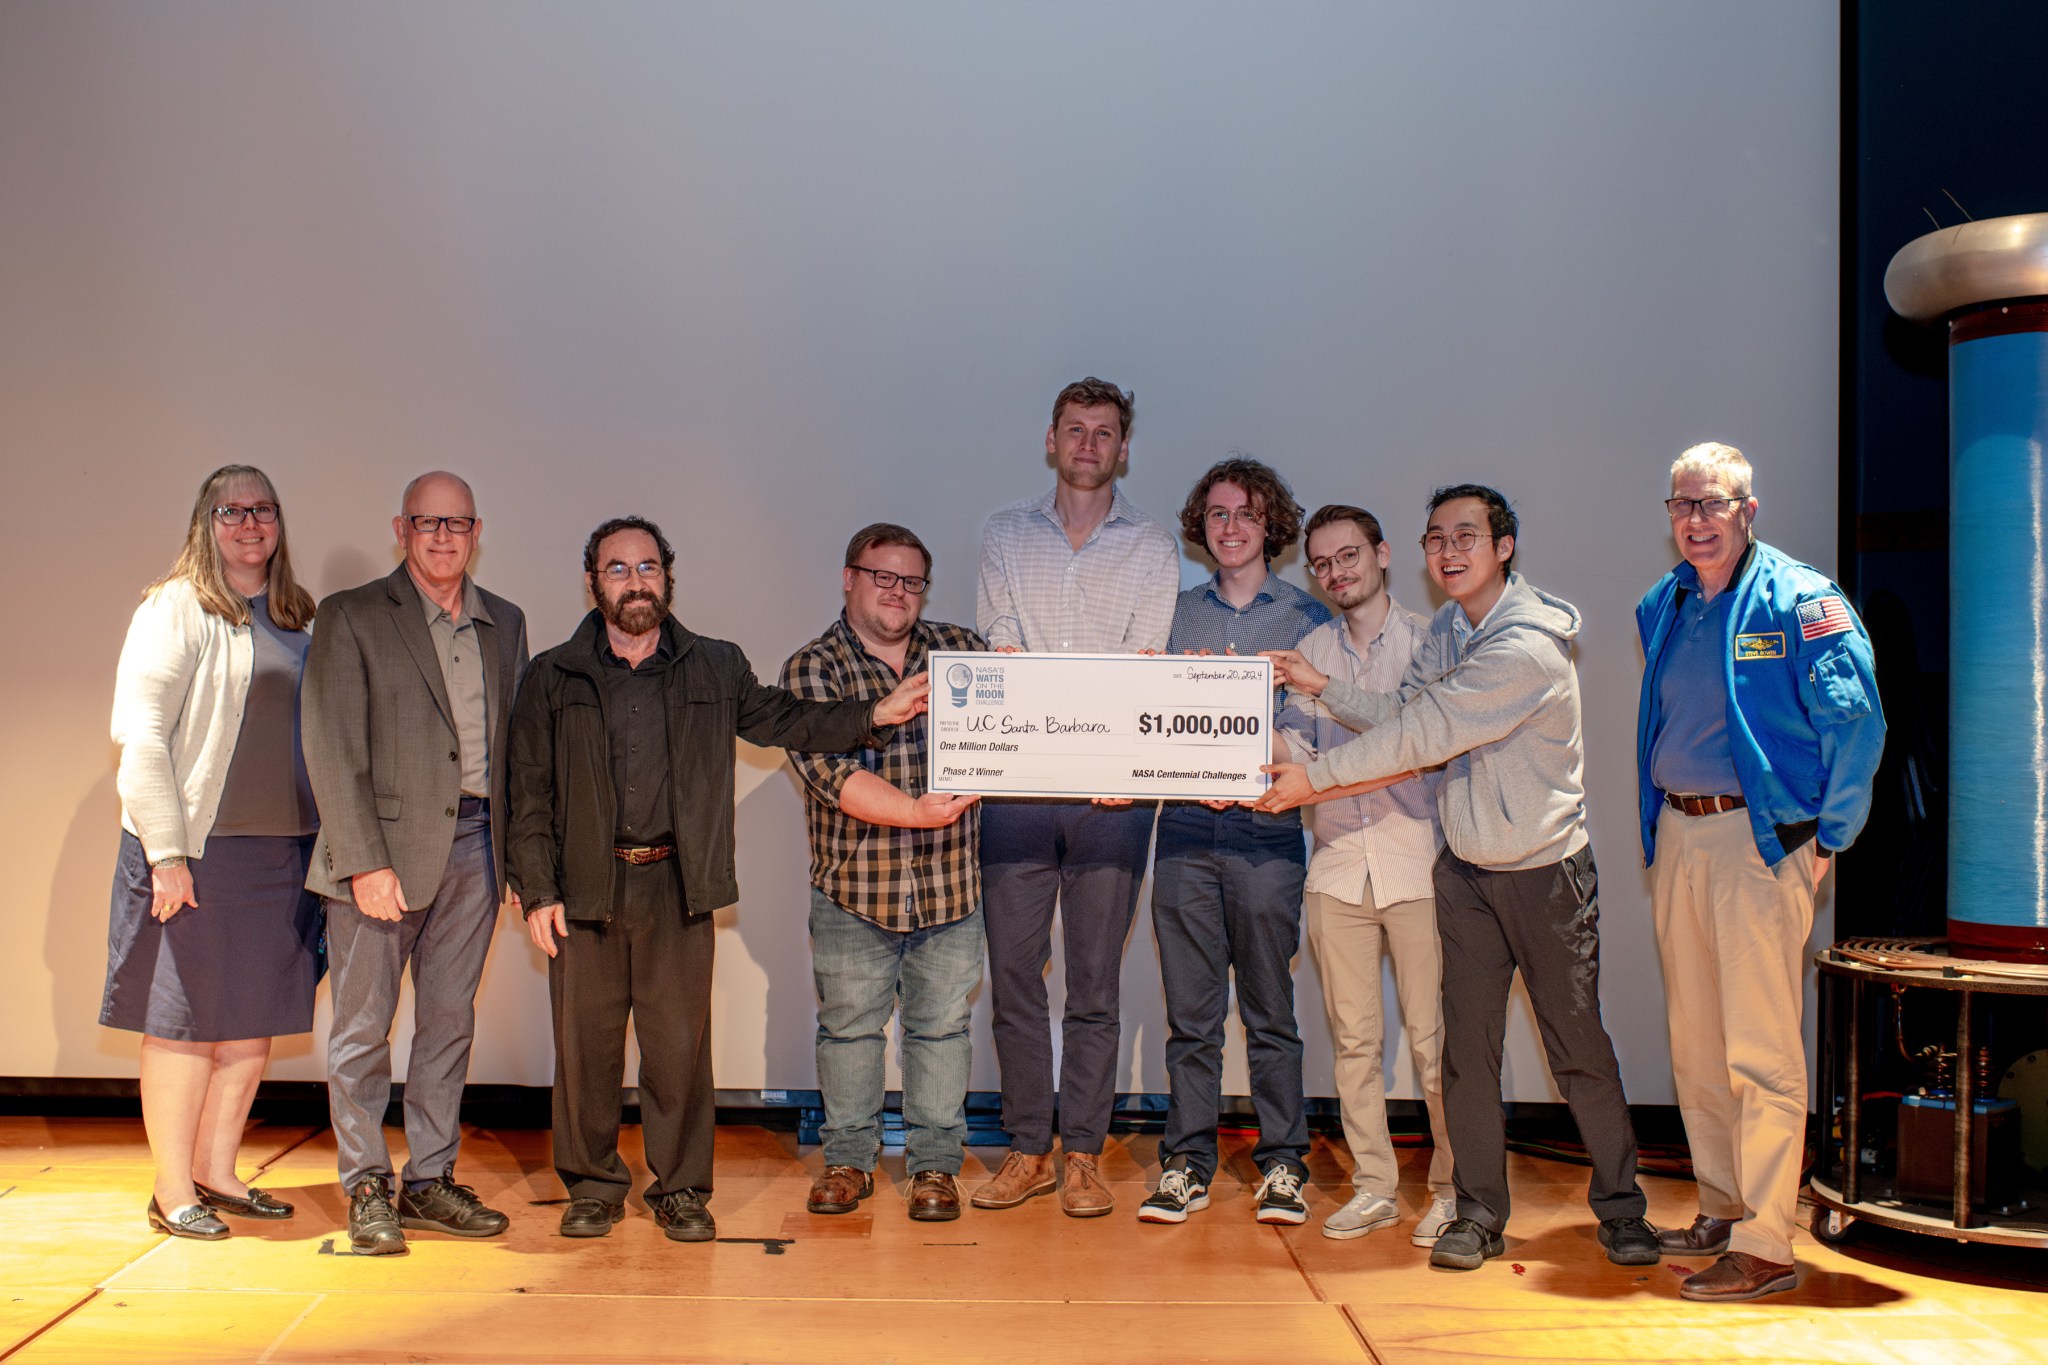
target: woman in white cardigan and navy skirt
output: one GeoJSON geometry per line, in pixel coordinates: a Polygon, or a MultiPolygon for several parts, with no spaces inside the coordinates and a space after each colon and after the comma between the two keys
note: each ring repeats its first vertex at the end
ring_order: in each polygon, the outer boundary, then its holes
{"type": "Polygon", "coordinates": [[[299,749],[313,598],[276,489],[227,465],[184,551],[135,608],[115,677],[121,860],[100,1023],[141,1040],[156,1158],[150,1226],[223,1238],[221,1214],[291,1218],[236,1175],[270,1040],[313,1027],[317,817],[299,749]]]}

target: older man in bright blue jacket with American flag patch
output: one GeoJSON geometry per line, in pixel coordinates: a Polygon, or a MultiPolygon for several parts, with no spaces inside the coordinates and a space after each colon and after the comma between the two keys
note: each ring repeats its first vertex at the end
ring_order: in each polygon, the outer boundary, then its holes
{"type": "Polygon", "coordinates": [[[1686,450],[1665,508],[1683,563],[1636,606],[1636,772],[1700,1214],[1659,1244],[1722,1252],[1683,1297],[1755,1300],[1796,1283],[1806,935],[1870,814],[1884,714],[1841,587],[1753,536],[1741,450],[1686,450]]]}

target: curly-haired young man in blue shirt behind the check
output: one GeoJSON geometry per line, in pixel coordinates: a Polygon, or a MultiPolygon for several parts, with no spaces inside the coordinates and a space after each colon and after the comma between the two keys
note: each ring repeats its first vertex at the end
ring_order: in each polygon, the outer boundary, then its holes
{"type": "MultiPolygon", "coordinates": [[[[1208,469],[1180,510],[1182,536],[1217,573],[1180,593],[1171,653],[1292,649],[1329,620],[1329,608],[1274,575],[1270,561],[1300,538],[1300,505],[1266,465],[1231,456],[1208,469]]],[[[1169,800],[1153,860],[1153,933],[1165,986],[1165,1136],[1159,1187],[1139,1205],[1155,1224],[1208,1207],[1223,1101],[1223,1029],[1231,976],[1245,1025],[1251,1107],[1260,1119],[1257,1220],[1309,1218],[1303,1183],[1309,1117],[1294,1025],[1294,952],[1309,855],[1300,814],[1266,814],[1235,800],[1169,800]]]]}

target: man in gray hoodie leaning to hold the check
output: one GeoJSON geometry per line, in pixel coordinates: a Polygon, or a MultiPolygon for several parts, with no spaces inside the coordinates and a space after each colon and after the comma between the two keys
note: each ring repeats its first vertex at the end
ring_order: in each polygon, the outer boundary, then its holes
{"type": "Polygon", "coordinates": [[[1450,602],[1430,622],[1399,692],[1360,692],[1296,651],[1274,651],[1288,686],[1362,731],[1307,767],[1276,763],[1264,810],[1317,792],[1444,765],[1436,925],[1444,939],[1444,1119],[1458,1220],[1430,1265],[1473,1271],[1505,1250],[1507,1128],[1501,1042],[1520,968],[1550,1074],[1579,1126],[1587,1201],[1616,1265],[1655,1265],[1636,1185],[1636,1134],[1614,1042],[1599,1021],[1599,900],[1585,835],[1585,741],[1571,641],[1579,612],[1513,571],[1516,514],[1460,483],[1430,497],[1421,548],[1450,602]]]}

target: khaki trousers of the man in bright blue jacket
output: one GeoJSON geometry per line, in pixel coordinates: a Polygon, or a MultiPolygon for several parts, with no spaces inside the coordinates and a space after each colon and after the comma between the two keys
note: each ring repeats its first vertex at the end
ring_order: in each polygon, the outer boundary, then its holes
{"type": "Polygon", "coordinates": [[[1815,851],[1763,866],[1747,810],[1657,817],[1651,907],[1671,1076],[1700,1212],[1735,1218],[1729,1250],[1792,1261],[1806,1154],[1800,1036],[1815,851]]]}

